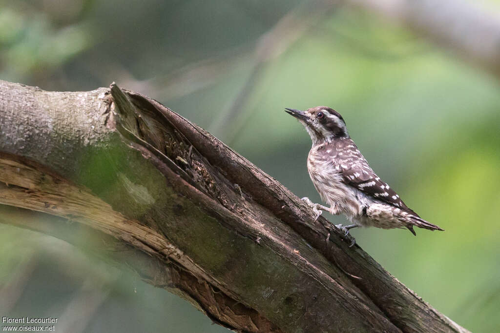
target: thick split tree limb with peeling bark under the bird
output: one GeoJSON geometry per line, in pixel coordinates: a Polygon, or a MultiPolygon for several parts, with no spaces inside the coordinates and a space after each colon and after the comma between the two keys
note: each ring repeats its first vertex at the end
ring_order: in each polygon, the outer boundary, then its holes
{"type": "Polygon", "coordinates": [[[0,81],[0,182],[0,222],[90,246],[235,331],[467,332],[276,180],[114,83],[0,81]]]}

